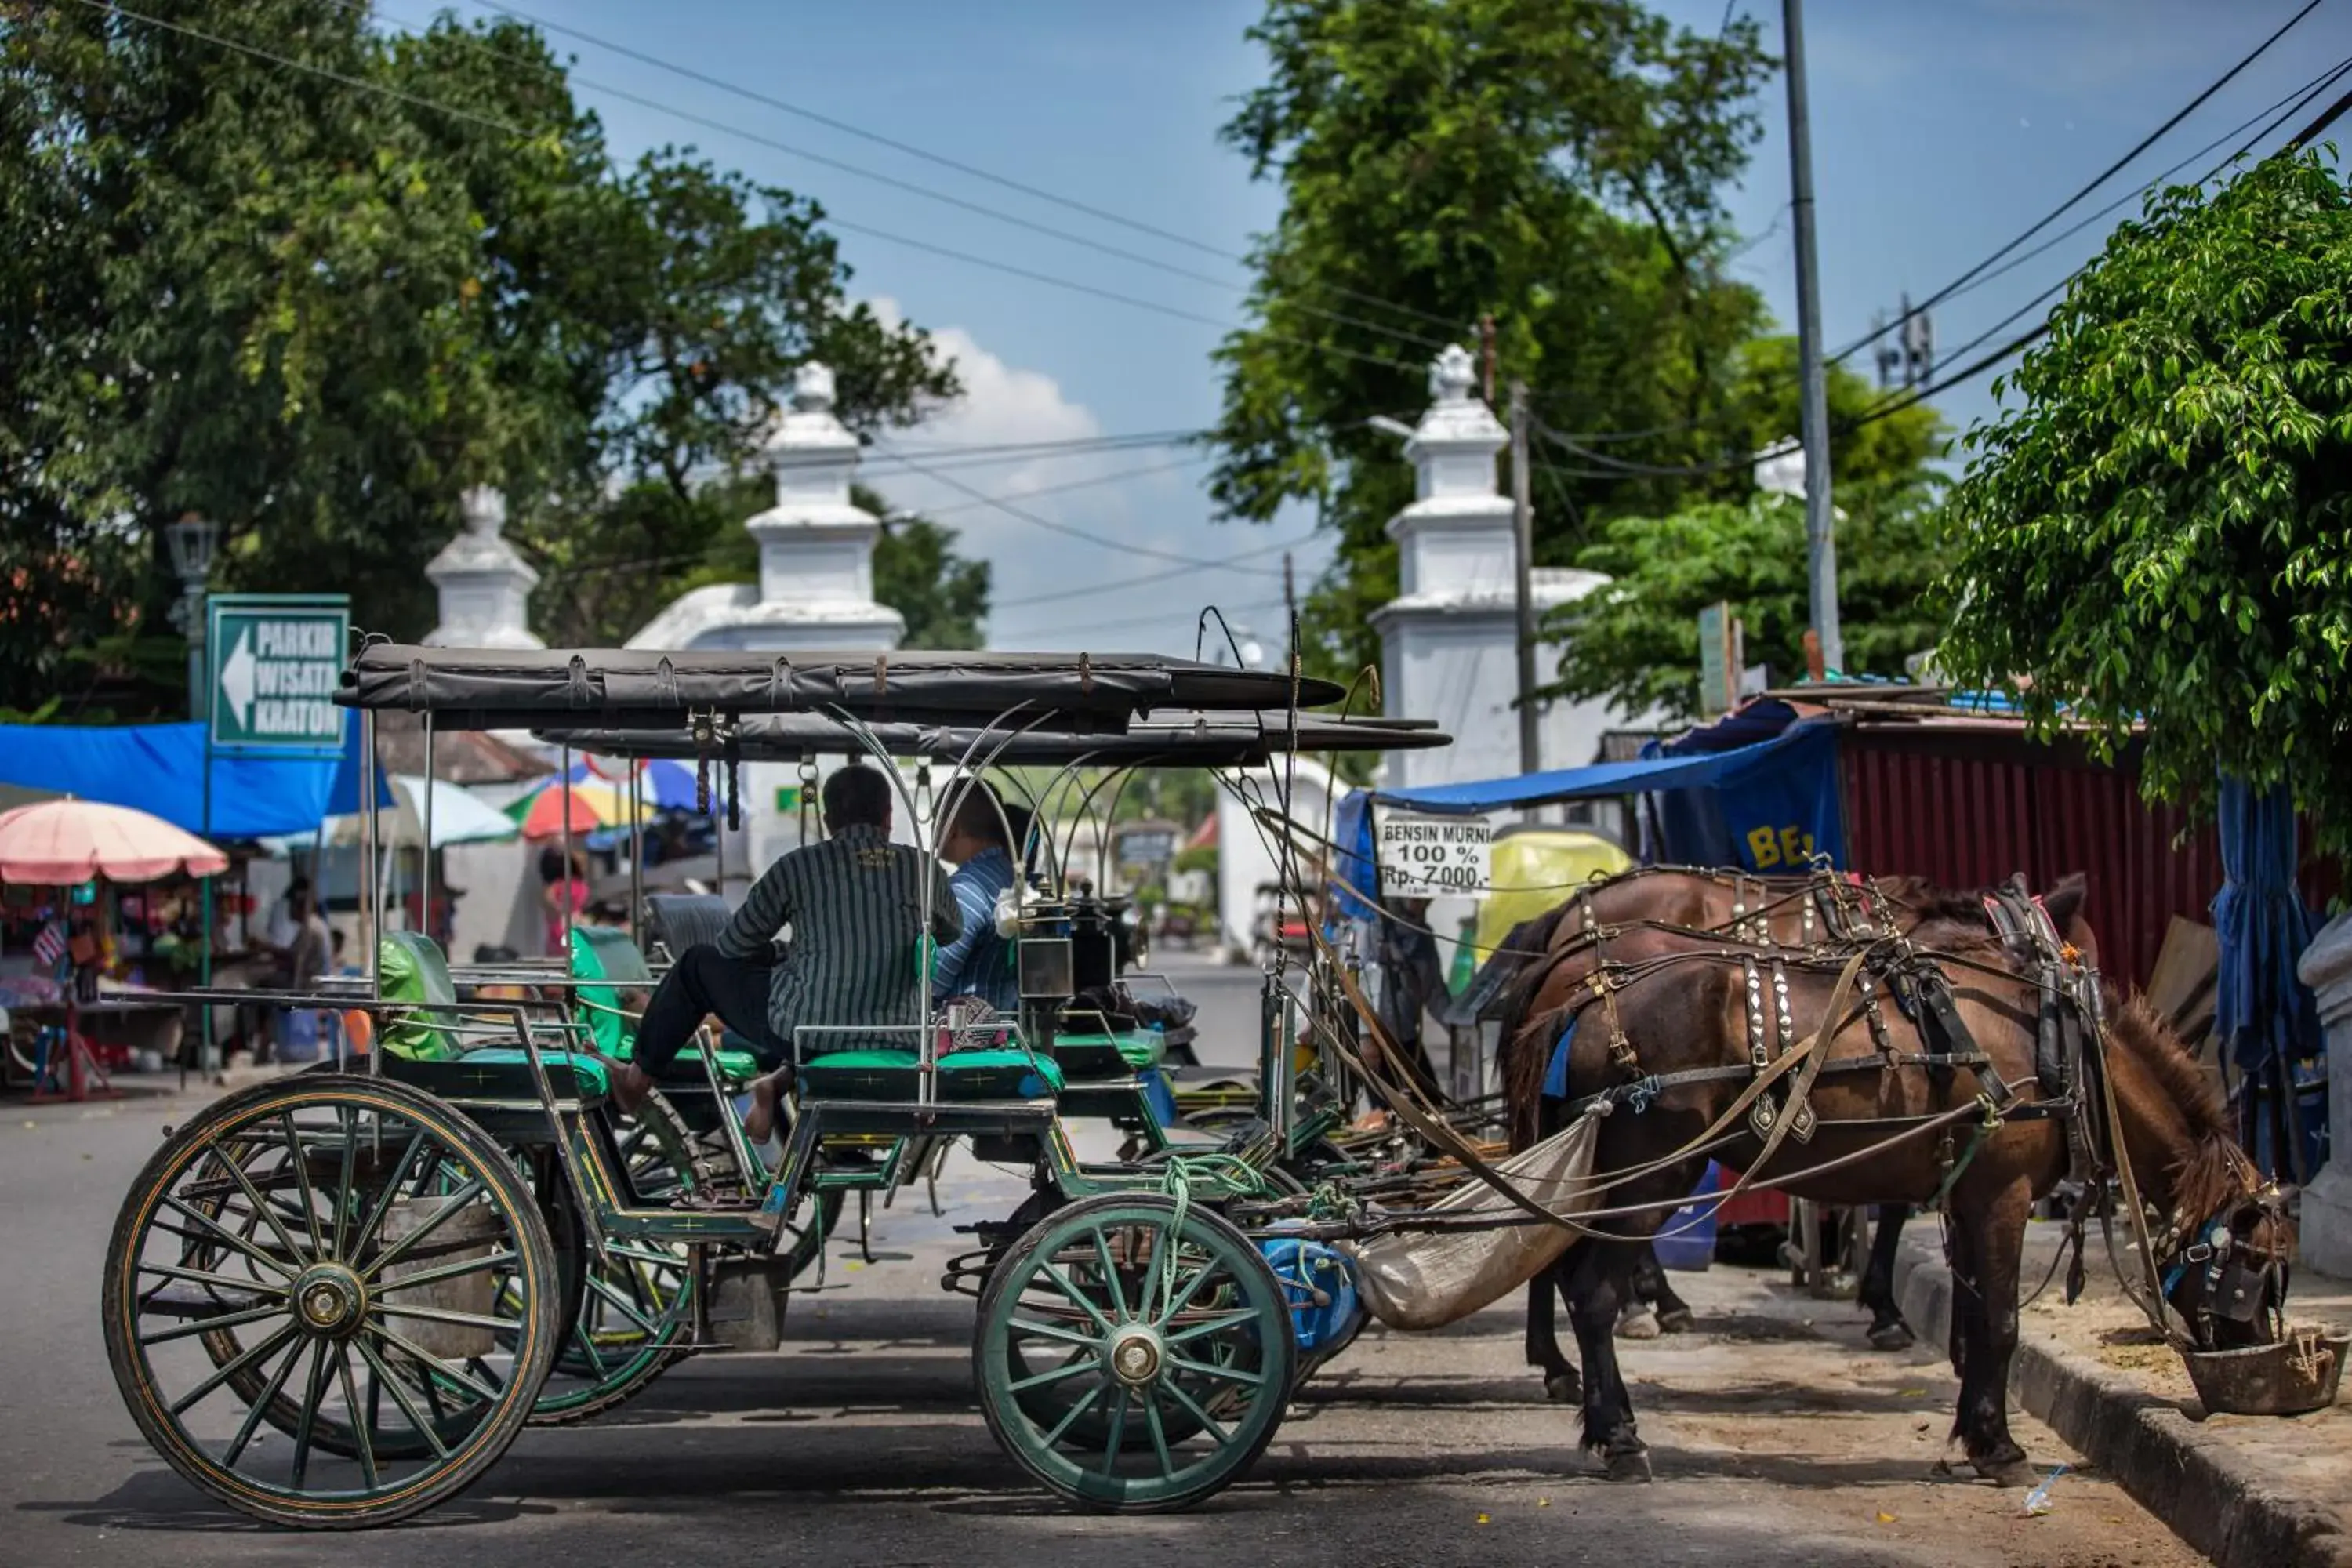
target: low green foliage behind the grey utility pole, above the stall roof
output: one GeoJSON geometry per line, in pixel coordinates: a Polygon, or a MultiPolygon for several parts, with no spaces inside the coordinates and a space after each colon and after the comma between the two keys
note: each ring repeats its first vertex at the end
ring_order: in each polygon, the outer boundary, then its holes
{"type": "MultiPolygon", "coordinates": [[[[1936,484],[1839,491],[1837,604],[1849,675],[1900,675],[1936,642],[1926,592],[1938,571],[1936,484]]],[[[1804,675],[1811,625],[1804,501],[1755,494],[1700,501],[1665,517],[1618,517],[1576,557],[1611,583],[1564,607],[1552,628],[1566,654],[1550,693],[1616,698],[1698,717],[1698,611],[1729,602],[1748,663],[1776,679],[1804,675]]]]}

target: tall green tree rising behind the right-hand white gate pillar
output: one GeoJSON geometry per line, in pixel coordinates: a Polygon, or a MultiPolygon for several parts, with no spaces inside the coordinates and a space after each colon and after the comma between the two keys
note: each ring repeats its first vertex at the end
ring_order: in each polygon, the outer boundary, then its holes
{"type": "MultiPolygon", "coordinates": [[[[1611,447],[1656,468],[1724,454],[1764,310],[1724,277],[1719,193],[1771,61],[1752,21],[1693,35],[1632,0],[1272,0],[1249,35],[1270,75],[1225,139],[1284,202],[1254,256],[1258,322],[1221,348],[1214,494],[1261,522],[1308,501],[1338,531],[1305,623],[1345,670],[1376,658],[1383,527],[1411,501],[1364,418],[1421,409],[1435,348],[1475,343],[1482,315],[1555,430],[1663,428],[1611,447]]],[[[1538,557],[1686,491],[1562,463],[1536,491],[1538,557]]]]}

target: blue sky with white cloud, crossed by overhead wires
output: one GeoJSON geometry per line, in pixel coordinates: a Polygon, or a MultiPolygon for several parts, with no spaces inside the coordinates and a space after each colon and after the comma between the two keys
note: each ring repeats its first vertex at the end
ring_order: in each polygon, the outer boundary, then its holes
{"type": "MultiPolygon", "coordinates": [[[[1762,16],[1766,42],[1778,52],[1780,7],[1738,2],[1762,16]]],[[[1656,0],[1656,7],[1703,31],[1724,16],[1722,0],[1656,0]]],[[[1922,299],[2004,244],[2298,7],[2300,0],[1813,0],[1806,54],[1828,341],[1849,343],[1903,292],[1922,299]]],[[[433,7],[383,0],[376,9],[388,26],[416,26],[433,7]]],[[[459,9],[480,14],[485,7],[459,9]]],[[[1232,99],[1261,78],[1261,61],[1242,38],[1261,9],[1249,0],[522,0],[522,9],[1195,237],[1216,252],[1242,252],[1277,212],[1275,188],[1249,183],[1242,160],[1216,141],[1232,99]]],[[[1167,310],[1237,320],[1235,289],[826,169],[623,101],[614,89],[1240,284],[1244,275],[1232,261],[1016,195],[581,38],[553,38],[576,54],[579,96],[604,118],[623,158],[649,146],[694,143],[760,181],[818,197],[844,226],[889,230],[1162,308],[1112,303],[844,228],[842,249],[856,268],[851,289],[938,331],[971,388],[964,407],[908,433],[903,449],[1190,430],[1216,416],[1209,350],[1218,329],[1167,310]]],[[[2352,56],[2352,0],[2328,0],[2034,244],[2345,56],[2352,56]]],[[[1773,313],[1795,324],[1778,80],[1759,108],[1764,139],[1745,186],[1731,195],[1736,221],[1759,242],[1738,268],[1773,313]]],[[[2225,150],[2237,141],[2241,136],[2225,150]]],[[[2201,174],[2218,158],[2185,174],[2201,174]]],[[[2096,254],[2110,223],[2136,209],[2129,202],[2049,254],[1952,299],[1936,313],[1940,348],[1959,348],[2060,280],[2096,254]]],[[[1990,341],[2002,343],[2037,320],[2027,315],[1990,341]]],[[[1858,364],[1867,369],[1865,360],[1858,364]]],[[[1966,428],[1992,409],[1985,381],[1990,376],[1938,400],[1955,425],[1966,428]]],[[[1214,522],[1200,487],[1204,463],[1169,468],[1183,456],[1124,451],[957,468],[962,489],[906,468],[887,475],[882,463],[870,477],[894,503],[931,510],[962,529],[964,548],[995,562],[997,646],[1190,651],[1204,602],[1272,632],[1279,557],[1232,557],[1301,538],[1308,520],[1270,531],[1214,522]],[[1075,482],[1091,484],[1021,505],[1120,543],[1054,534],[978,505],[969,494],[1018,503],[1021,491],[1075,482]],[[1150,552],[1232,564],[1084,597],[1044,597],[1171,569],[1150,552]]],[[[1322,543],[1301,545],[1301,583],[1324,557],[1322,543]]]]}

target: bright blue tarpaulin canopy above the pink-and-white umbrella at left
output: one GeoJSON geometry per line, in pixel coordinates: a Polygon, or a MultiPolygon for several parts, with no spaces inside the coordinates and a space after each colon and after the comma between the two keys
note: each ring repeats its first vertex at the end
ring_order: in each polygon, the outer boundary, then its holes
{"type": "MultiPolygon", "coordinates": [[[[343,719],[341,757],[212,757],[205,811],[205,726],[0,724],[0,783],[132,806],[207,839],[315,832],[360,809],[360,726],[343,719]]],[[[393,792],[376,769],[376,804],[393,792]]]]}

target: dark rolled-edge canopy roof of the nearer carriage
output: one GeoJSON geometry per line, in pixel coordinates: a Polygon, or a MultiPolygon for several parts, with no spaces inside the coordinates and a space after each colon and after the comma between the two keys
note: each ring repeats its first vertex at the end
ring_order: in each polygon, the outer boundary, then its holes
{"type": "MultiPolygon", "coordinates": [[[[1343,689],[1301,679],[1301,708],[1343,689]]],[[[1051,715],[1063,731],[1122,729],[1152,708],[1289,708],[1291,679],[1160,654],[661,654],[637,649],[426,649],[372,644],[336,691],[346,708],[430,712],[449,729],[684,726],[689,712],[955,724],[1051,715]]]]}

